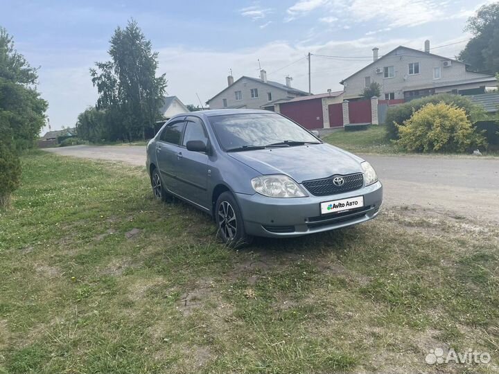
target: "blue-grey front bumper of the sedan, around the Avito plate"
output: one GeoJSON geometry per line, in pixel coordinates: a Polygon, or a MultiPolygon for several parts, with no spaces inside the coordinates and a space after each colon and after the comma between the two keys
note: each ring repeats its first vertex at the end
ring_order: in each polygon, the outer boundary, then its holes
{"type": "Polygon", "coordinates": [[[269,238],[293,238],[320,233],[371,220],[378,215],[383,201],[383,186],[377,181],[371,186],[348,193],[329,196],[279,199],[255,193],[236,193],[249,235],[269,238]],[[320,203],[347,197],[364,196],[364,207],[329,215],[320,214],[320,203]]]}

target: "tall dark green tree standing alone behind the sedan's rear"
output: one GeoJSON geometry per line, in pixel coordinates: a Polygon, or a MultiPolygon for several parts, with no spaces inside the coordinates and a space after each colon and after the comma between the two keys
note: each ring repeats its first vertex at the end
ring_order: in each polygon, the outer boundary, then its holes
{"type": "Polygon", "coordinates": [[[160,119],[166,89],[165,75],[156,77],[158,54],[134,20],[124,29],[116,28],[110,44],[111,60],[90,69],[99,95],[96,108],[105,111],[109,127],[105,134],[129,141],[144,139],[146,128],[153,128],[160,119]]]}

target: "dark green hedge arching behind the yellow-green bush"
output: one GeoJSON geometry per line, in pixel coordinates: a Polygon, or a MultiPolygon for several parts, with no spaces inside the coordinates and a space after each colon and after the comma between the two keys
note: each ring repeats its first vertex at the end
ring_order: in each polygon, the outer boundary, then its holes
{"type": "Polygon", "coordinates": [[[483,107],[473,103],[473,101],[466,98],[466,96],[451,94],[426,96],[424,98],[411,100],[409,103],[389,107],[385,121],[387,125],[388,139],[399,139],[399,126],[396,124],[403,124],[412,116],[412,113],[418,111],[429,103],[446,103],[448,105],[454,105],[462,108],[466,112],[466,117],[472,123],[487,118],[487,112],[485,112],[483,107]]]}

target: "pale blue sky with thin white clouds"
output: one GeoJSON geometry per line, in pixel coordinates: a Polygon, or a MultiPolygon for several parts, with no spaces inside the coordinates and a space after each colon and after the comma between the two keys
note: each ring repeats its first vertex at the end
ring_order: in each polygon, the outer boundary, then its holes
{"type": "MultiPolygon", "coordinates": [[[[37,89],[49,101],[52,130],[73,127],[95,105],[89,69],[109,59],[117,26],[137,20],[159,53],[168,96],[200,105],[234,78],[259,76],[313,94],[341,90],[340,80],[399,45],[455,57],[471,35],[468,17],[490,0],[71,1],[0,0],[0,26],[17,51],[40,66],[37,89]]],[[[44,131],[48,128],[44,128],[44,131]]]]}

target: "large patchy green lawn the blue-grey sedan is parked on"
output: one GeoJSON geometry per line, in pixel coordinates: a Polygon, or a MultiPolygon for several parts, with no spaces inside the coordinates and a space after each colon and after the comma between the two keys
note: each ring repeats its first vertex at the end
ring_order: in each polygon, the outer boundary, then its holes
{"type": "Polygon", "coordinates": [[[0,373],[446,371],[424,362],[437,347],[498,362],[495,226],[390,208],[236,251],[152,199],[142,168],[23,166],[0,215],[0,373]]]}

